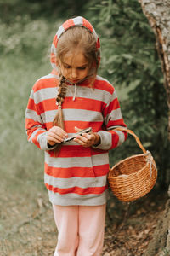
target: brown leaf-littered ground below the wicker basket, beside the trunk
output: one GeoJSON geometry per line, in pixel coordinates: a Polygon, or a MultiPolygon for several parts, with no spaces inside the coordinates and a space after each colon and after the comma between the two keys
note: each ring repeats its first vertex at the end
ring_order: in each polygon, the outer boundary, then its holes
{"type": "Polygon", "coordinates": [[[119,204],[122,214],[118,216],[115,209],[112,212],[115,219],[111,217],[111,211],[108,212],[103,255],[142,256],[153,237],[156,224],[163,215],[166,201],[167,193],[152,191],[130,205],[119,204]]]}

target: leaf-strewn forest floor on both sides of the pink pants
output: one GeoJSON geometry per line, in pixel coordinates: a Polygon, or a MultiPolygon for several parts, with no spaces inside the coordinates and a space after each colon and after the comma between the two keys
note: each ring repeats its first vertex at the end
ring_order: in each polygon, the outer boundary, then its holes
{"type": "MultiPolygon", "coordinates": [[[[52,256],[57,231],[47,191],[34,193],[32,201],[29,191],[23,192],[24,196],[18,189],[9,191],[4,186],[0,189],[0,256],[52,256]]],[[[103,256],[143,255],[166,201],[167,193],[154,191],[130,207],[112,201],[106,217],[103,256]]]]}

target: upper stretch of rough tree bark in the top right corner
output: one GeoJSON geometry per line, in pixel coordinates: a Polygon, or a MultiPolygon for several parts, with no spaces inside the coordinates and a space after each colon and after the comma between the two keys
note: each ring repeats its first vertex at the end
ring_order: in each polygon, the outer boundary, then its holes
{"type": "Polygon", "coordinates": [[[167,92],[168,139],[170,141],[170,0],[139,0],[144,15],[156,35],[156,49],[161,59],[167,92]]]}

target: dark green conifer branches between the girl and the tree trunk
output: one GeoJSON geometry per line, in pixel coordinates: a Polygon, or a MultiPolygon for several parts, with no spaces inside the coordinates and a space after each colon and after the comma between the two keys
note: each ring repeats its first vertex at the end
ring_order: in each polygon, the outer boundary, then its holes
{"type": "MultiPolygon", "coordinates": [[[[137,0],[94,1],[91,6],[91,20],[101,34],[100,73],[121,91],[118,98],[127,126],[154,155],[159,183],[165,186],[169,183],[170,145],[166,92],[155,35],[137,0]]],[[[141,152],[133,141],[130,138],[113,150],[111,163],[141,152]]]]}

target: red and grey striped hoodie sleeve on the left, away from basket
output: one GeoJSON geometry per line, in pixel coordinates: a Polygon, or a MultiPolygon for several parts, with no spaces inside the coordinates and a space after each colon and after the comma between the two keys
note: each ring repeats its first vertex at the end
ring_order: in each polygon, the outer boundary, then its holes
{"type": "Polygon", "coordinates": [[[43,124],[41,114],[38,112],[33,90],[31,90],[31,95],[26,108],[26,134],[28,141],[34,143],[38,148],[42,150],[54,149],[48,148],[48,131],[43,124]]]}

